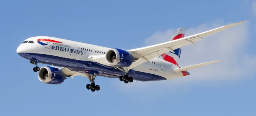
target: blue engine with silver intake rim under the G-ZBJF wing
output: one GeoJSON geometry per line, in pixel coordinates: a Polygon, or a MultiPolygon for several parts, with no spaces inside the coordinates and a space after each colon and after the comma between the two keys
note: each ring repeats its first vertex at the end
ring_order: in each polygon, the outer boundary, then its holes
{"type": "Polygon", "coordinates": [[[133,57],[129,51],[110,49],[106,52],[106,62],[111,66],[129,67],[133,61],[133,57]]]}

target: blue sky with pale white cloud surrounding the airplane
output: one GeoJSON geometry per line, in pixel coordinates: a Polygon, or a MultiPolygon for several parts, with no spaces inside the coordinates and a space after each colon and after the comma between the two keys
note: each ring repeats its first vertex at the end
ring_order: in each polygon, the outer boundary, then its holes
{"type": "Polygon", "coordinates": [[[1,1],[0,115],[255,116],[255,18],[251,0],[1,1]],[[24,39],[39,35],[134,49],[168,41],[180,27],[189,35],[242,20],[248,22],[182,49],[182,66],[222,63],[168,81],[126,85],[97,77],[98,92],[85,88],[84,77],[41,83],[34,65],[16,53],[24,39]]]}

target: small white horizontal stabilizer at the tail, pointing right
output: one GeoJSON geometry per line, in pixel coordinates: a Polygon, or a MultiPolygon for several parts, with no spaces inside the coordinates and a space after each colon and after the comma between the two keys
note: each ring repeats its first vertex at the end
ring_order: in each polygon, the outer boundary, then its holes
{"type": "Polygon", "coordinates": [[[196,64],[196,65],[190,65],[190,66],[186,66],[186,67],[180,67],[180,68],[177,68],[177,69],[173,69],[173,71],[175,71],[175,72],[188,71],[188,70],[191,70],[191,69],[196,69],[196,68],[199,68],[199,67],[203,67],[203,66],[210,65],[210,64],[213,64],[213,63],[218,63],[218,62],[220,62],[220,60],[210,61],[210,62],[206,62],[206,63],[200,63],[200,64],[196,64]]]}

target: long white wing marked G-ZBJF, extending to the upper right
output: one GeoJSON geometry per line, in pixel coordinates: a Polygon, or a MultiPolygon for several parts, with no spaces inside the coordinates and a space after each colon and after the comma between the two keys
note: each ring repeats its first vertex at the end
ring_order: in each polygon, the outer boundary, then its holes
{"type": "Polygon", "coordinates": [[[183,37],[180,39],[176,39],[176,40],[172,40],[172,41],[168,41],[168,42],[164,42],[164,43],[159,43],[156,45],[150,45],[147,47],[141,47],[141,48],[137,48],[137,49],[128,50],[131,52],[131,54],[133,56],[139,56],[138,59],[135,60],[132,63],[132,65],[130,65],[128,67],[128,69],[132,69],[132,68],[144,63],[145,61],[148,61],[158,55],[162,55],[163,53],[166,53],[168,51],[174,52],[173,51],[174,49],[178,49],[178,48],[184,47],[189,44],[194,45],[194,42],[202,40],[203,37],[207,37],[214,33],[218,33],[220,31],[223,31],[223,30],[231,28],[233,26],[242,24],[244,22],[246,22],[246,20],[244,20],[242,22],[237,22],[234,24],[228,24],[228,25],[225,25],[225,26],[222,26],[219,28],[209,30],[209,31],[204,31],[202,33],[190,35],[188,37],[183,37]]]}

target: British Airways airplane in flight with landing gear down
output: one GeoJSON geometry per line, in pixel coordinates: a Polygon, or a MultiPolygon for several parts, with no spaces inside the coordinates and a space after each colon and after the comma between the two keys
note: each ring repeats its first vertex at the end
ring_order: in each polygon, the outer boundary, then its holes
{"type": "Polygon", "coordinates": [[[47,84],[61,84],[66,77],[84,76],[91,84],[86,88],[100,90],[96,76],[119,78],[124,83],[160,81],[190,75],[188,70],[220,60],[180,67],[181,47],[195,45],[204,37],[246,22],[237,22],[184,37],[185,28],[178,28],[170,41],[136,49],[107,48],[56,37],[37,36],[25,39],[17,48],[21,57],[34,64],[38,79],[47,84]],[[38,63],[52,65],[38,67],[38,63]]]}

